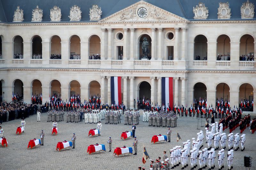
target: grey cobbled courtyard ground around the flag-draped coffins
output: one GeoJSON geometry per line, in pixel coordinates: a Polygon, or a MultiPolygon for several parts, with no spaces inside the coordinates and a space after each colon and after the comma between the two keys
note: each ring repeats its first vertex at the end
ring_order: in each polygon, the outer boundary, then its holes
{"type": "MultiPolygon", "coordinates": [[[[46,122],[46,113],[41,115],[41,122],[36,122],[36,115],[30,116],[26,120],[26,131],[21,135],[16,135],[16,129],[20,125],[20,120],[14,120],[2,124],[4,129],[4,136],[9,142],[9,146],[0,146],[0,169],[108,169],[108,170],[120,170],[137,169],[138,166],[145,166],[149,169],[149,159],[145,165],[142,164],[143,146],[146,147],[151,159],[156,159],[158,156],[163,155],[164,150],[170,150],[176,145],[182,145],[181,141],[176,142],[177,131],[180,134],[182,140],[188,140],[192,137],[196,137],[197,119],[189,117],[181,117],[178,119],[178,126],[172,129],[171,143],[164,142],[159,144],[151,144],[151,138],[153,135],[159,133],[165,134],[167,128],[148,127],[148,123],[142,122],[142,116],[140,117],[140,125],[137,126],[136,136],[139,141],[138,154],[114,157],[113,150],[116,147],[132,146],[133,138],[122,141],[120,139],[121,132],[125,130],[131,131],[131,126],[123,125],[123,119],[119,125],[105,125],[103,120],[102,135],[97,137],[88,137],[88,130],[96,128],[96,124],[84,124],[80,123],[66,123],[60,122],[58,124],[59,133],[57,136],[51,136],[52,123],[46,122]],[[39,133],[44,130],[44,146],[37,146],[33,149],[27,149],[28,141],[33,138],[39,138],[39,133]],[[76,149],[63,150],[57,152],[55,150],[57,142],[64,140],[71,140],[72,134],[76,133],[76,149]],[[87,146],[90,144],[105,144],[108,150],[108,137],[112,137],[112,152],[97,153],[89,155],[87,153],[87,146]]],[[[199,128],[201,120],[199,121],[199,128]]],[[[204,119],[202,122],[204,125],[204,119]]],[[[204,127],[201,128],[204,131],[204,127]]],[[[205,132],[205,131],[204,131],[205,132]]],[[[228,133],[228,130],[225,130],[228,133]]],[[[236,129],[234,133],[238,133],[236,129]]],[[[250,155],[256,158],[255,149],[255,136],[251,134],[247,128],[244,133],[246,134],[245,151],[236,151],[234,153],[234,170],[244,169],[244,155],[250,155]]],[[[204,146],[207,146],[205,144],[204,146]]],[[[213,146],[213,144],[212,144],[213,146]]],[[[228,148],[228,145],[227,145],[228,148]]],[[[240,146],[241,148],[241,146],[240,146]]],[[[241,150],[241,149],[240,149],[241,150]]],[[[216,152],[217,153],[217,152],[216,152]]],[[[168,156],[170,155],[167,152],[168,156]]],[[[227,149],[225,151],[225,157],[227,155],[227,149]]],[[[217,159],[215,159],[215,165],[217,165],[217,159]]],[[[225,158],[225,168],[227,168],[227,157],[225,158]]],[[[252,162],[252,169],[256,167],[255,161],[252,162]]],[[[180,169],[181,166],[175,169],[180,169]]],[[[189,167],[185,169],[190,169],[189,167]]],[[[218,169],[217,166],[215,169],[218,169]]]]}

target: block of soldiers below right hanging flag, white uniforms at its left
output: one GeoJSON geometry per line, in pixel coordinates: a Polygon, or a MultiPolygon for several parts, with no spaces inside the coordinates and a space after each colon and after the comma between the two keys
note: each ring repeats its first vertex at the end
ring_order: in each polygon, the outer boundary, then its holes
{"type": "Polygon", "coordinates": [[[143,112],[143,122],[148,122],[148,126],[152,127],[176,127],[177,126],[177,115],[171,111],[167,112],[160,110],[144,110],[143,112]]]}

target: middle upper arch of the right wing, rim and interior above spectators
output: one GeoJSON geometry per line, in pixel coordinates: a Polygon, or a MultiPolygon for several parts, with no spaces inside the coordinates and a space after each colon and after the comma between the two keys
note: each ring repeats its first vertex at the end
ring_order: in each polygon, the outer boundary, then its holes
{"type": "Polygon", "coordinates": [[[221,34],[217,38],[217,54],[230,55],[231,39],[226,34],[221,34]]]}

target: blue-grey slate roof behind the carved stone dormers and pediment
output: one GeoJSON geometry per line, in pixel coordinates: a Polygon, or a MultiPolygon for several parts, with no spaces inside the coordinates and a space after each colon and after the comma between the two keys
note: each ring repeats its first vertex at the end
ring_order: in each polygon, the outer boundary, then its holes
{"type": "MultiPolygon", "coordinates": [[[[67,22],[70,19],[69,11],[73,5],[78,5],[82,11],[82,22],[90,21],[89,10],[93,4],[99,5],[102,10],[101,18],[106,18],[117,11],[120,11],[140,0],[0,0],[0,20],[2,22],[12,22],[13,13],[17,6],[24,11],[24,21],[31,22],[32,10],[36,8],[43,9],[43,22],[50,22],[50,9],[57,5],[61,9],[61,22],[67,22]]],[[[166,11],[172,12],[180,17],[193,20],[193,6],[202,2],[208,7],[209,16],[207,20],[217,20],[219,2],[229,2],[231,8],[231,19],[241,20],[240,7],[246,0],[146,0],[146,2],[153,4],[166,11]]],[[[256,0],[250,0],[256,6],[256,0]]],[[[255,9],[254,9],[255,11],[255,9]]],[[[256,19],[256,14],[254,19],[256,19]]]]}

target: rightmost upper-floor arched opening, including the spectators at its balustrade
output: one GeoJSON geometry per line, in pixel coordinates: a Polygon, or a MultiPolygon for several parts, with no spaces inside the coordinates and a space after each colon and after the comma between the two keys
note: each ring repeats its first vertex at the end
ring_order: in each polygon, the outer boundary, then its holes
{"type": "Polygon", "coordinates": [[[240,61],[252,61],[251,57],[254,54],[254,39],[252,35],[245,34],[240,39],[240,61]]]}

